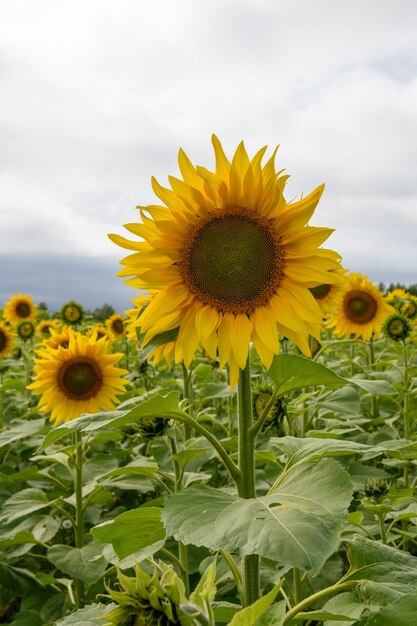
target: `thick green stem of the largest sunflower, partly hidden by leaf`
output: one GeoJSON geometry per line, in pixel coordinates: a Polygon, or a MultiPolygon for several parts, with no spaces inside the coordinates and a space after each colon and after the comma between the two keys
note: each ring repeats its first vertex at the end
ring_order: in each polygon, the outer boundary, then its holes
{"type": "MultiPolygon", "coordinates": [[[[238,494],[241,498],[255,498],[255,442],[253,434],[252,390],[249,357],[245,369],[239,370],[238,383],[238,414],[239,414],[239,469],[238,494]]],[[[242,605],[253,604],[260,595],[259,589],[259,556],[249,554],[243,557],[243,593],[242,605]]]]}

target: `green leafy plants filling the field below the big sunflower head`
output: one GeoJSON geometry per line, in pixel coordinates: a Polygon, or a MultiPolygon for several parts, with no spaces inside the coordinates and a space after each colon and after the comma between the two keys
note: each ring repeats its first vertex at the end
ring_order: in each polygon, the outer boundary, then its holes
{"type": "Polygon", "coordinates": [[[0,350],[1,624],[417,623],[412,334],[281,336],[231,388],[96,328],[124,391],[53,425],[28,384],[59,333],[0,350]]]}

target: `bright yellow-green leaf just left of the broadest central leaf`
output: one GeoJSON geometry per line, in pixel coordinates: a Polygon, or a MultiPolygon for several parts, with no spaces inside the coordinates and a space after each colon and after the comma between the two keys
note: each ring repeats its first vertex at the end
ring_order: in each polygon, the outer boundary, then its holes
{"type": "Polygon", "coordinates": [[[150,556],[165,543],[161,509],[143,507],[121,513],[114,520],[92,528],[93,536],[102,543],[111,543],[120,559],[145,550],[142,558],[150,556]]]}

